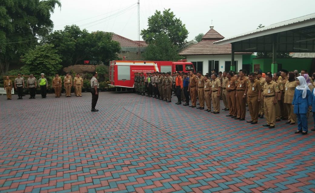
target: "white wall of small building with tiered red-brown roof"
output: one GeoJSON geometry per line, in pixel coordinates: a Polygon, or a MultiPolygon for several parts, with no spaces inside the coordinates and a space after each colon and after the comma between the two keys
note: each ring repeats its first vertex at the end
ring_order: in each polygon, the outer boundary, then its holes
{"type": "MultiPolygon", "coordinates": [[[[238,72],[243,67],[243,55],[234,55],[234,60],[238,61],[238,72]]],[[[231,61],[231,55],[201,55],[201,56],[187,56],[187,62],[203,62],[203,74],[209,73],[209,60],[219,61],[219,72],[223,72],[225,68],[225,61],[231,61]]]]}

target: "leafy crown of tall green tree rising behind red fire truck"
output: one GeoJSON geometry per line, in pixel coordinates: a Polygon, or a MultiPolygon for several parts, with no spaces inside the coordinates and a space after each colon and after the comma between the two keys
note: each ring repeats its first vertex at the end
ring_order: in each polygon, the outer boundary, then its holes
{"type": "Polygon", "coordinates": [[[142,29],[140,35],[150,44],[157,40],[160,34],[166,35],[174,46],[181,48],[185,46],[188,30],[170,9],[164,9],[163,14],[156,10],[154,15],[148,18],[148,28],[142,29]]]}

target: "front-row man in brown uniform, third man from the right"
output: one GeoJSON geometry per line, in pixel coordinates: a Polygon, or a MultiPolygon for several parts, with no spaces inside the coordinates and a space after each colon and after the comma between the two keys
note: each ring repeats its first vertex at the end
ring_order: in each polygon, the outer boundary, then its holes
{"type": "Polygon", "coordinates": [[[248,88],[248,79],[245,77],[245,70],[239,70],[239,78],[237,80],[236,87],[236,105],[237,105],[237,117],[234,119],[239,119],[240,121],[245,120],[246,114],[246,93],[248,88]]]}

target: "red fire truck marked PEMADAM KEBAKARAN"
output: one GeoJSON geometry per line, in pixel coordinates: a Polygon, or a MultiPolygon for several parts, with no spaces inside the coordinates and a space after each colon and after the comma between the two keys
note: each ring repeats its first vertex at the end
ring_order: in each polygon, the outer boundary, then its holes
{"type": "Polygon", "coordinates": [[[194,66],[187,60],[171,61],[111,61],[109,66],[110,86],[134,88],[135,72],[189,72],[194,66]]]}

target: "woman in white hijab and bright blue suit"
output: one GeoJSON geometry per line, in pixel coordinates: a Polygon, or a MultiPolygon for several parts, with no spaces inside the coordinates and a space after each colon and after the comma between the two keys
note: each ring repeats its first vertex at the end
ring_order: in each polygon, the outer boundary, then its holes
{"type": "Polygon", "coordinates": [[[297,117],[298,130],[294,133],[305,135],[308,131],[306,113],[312,109],[312,94],[303,76],[296,78],[296,84],[298,86],[295,87],[292,105],[294,106],[293,112],[297,117]]]}

